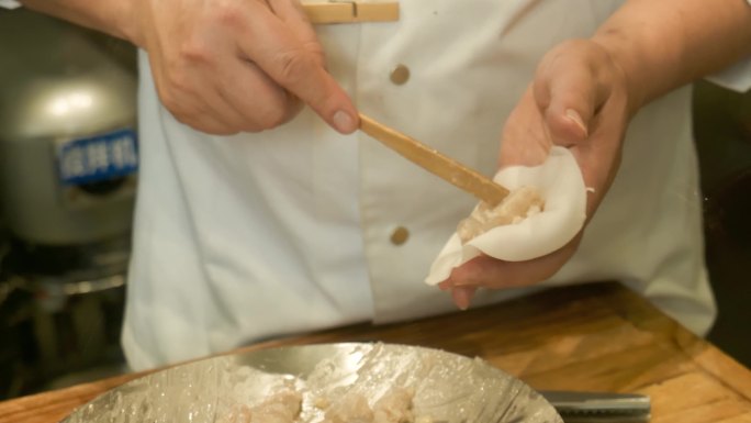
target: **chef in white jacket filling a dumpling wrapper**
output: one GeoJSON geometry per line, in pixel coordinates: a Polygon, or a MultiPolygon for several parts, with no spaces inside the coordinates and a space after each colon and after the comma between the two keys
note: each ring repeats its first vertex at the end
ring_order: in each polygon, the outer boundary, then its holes
{"type": "Polygon", "coordinates": [[[718,80],[751,86],[743,0],[399,0],[392,21],[315,27],[295,0],[23,3],[141,47],[134,369],[606,279],[713,322],[685,84],[739,62],[718,80]],[[568,147],[589,224],[429,287],[474,199],[357,132],[358,111],[489,176],[568,147]]]}

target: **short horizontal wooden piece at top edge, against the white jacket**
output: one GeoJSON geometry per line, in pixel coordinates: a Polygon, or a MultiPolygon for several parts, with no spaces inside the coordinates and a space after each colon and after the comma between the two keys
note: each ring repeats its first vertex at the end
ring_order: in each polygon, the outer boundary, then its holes
{"type": "Polygon", "coordinates": [[[396,1],[328,1],[302,7],[313,24],[399,21],[396,1]]]}

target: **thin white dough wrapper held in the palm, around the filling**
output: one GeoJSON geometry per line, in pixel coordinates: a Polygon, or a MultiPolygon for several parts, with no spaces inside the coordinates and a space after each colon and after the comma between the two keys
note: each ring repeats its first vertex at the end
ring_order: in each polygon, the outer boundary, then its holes
{"type": "Polygon", "coordinates": [[[507,261],[545,256],[564,246],[586,219],[586,187],[568,148],[553,146],[536,167],[514,166],[500,170],[493,180],[509,190],[536,187],[545,200],[540,213],[508,225],[496,226],[461,245],[456,233],[430,266],[427,285],[446,280],[451,269],[484,253],[507,261]]]}

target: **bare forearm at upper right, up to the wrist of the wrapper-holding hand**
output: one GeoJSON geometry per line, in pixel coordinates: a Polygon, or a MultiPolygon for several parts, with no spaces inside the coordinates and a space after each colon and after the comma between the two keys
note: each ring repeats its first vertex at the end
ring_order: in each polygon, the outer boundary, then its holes
{"type": "Polygon", "coordinates": [[[630,0],[593,36],[626,74],[636,111],[751,55],[746,0],[630,0]]]}

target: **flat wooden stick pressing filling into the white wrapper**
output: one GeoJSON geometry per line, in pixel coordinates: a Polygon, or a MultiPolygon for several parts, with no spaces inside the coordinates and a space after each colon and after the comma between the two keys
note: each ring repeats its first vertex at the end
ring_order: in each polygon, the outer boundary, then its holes
{"type": "Polygon", "coordinates": [[[508,190],[434,148],[360,114],[360,130],[417,166],[495,207],[508,190]]]}

